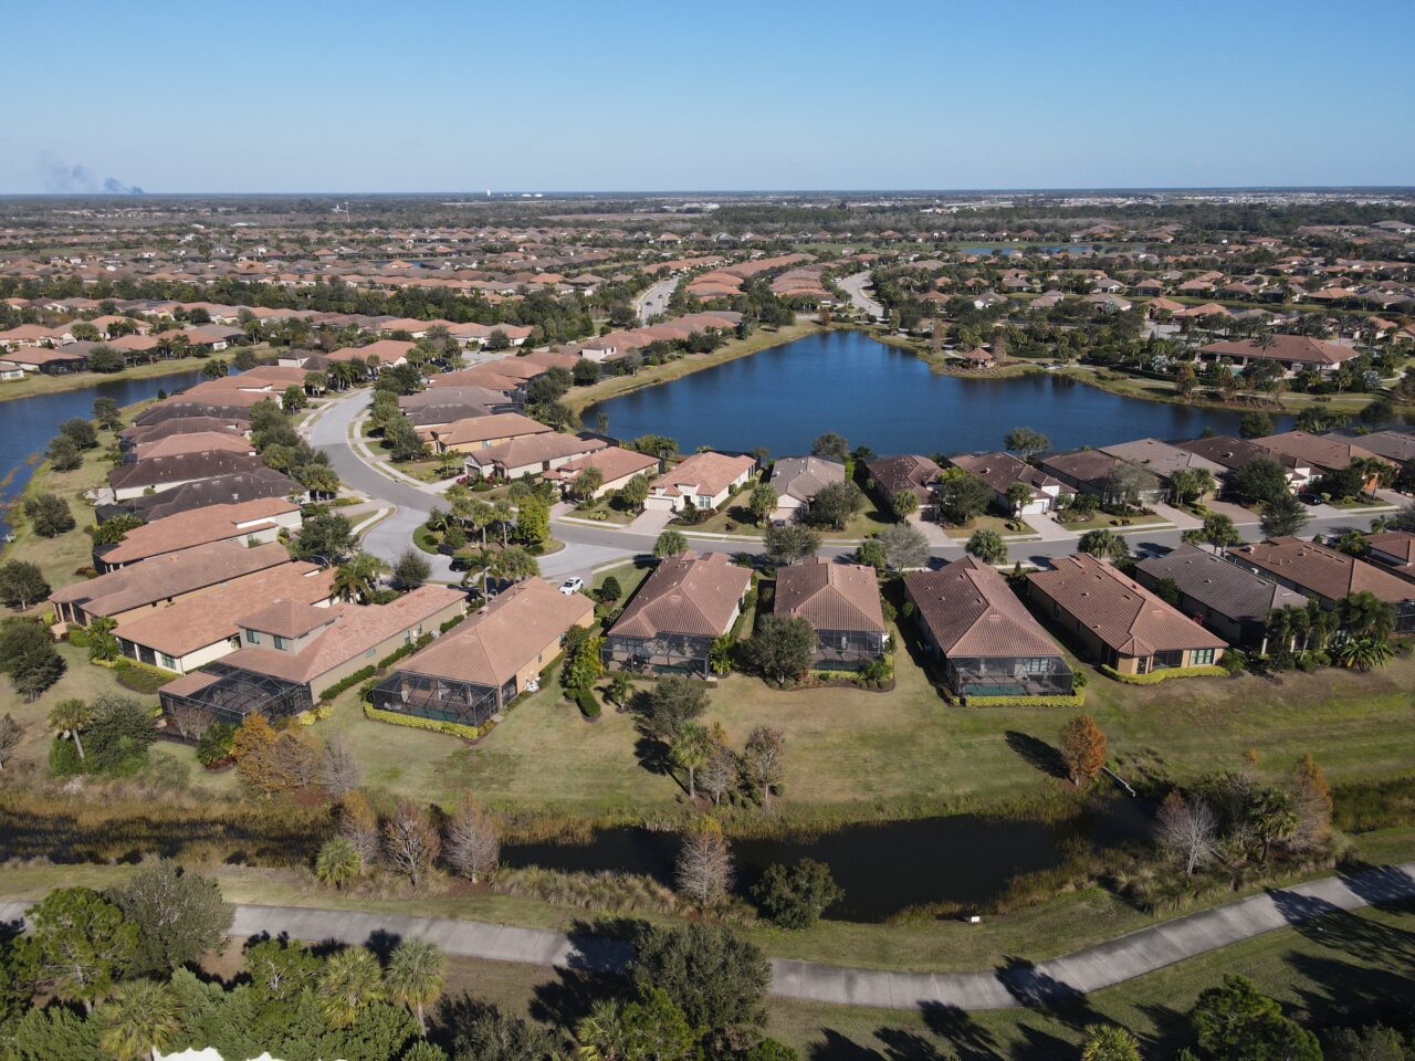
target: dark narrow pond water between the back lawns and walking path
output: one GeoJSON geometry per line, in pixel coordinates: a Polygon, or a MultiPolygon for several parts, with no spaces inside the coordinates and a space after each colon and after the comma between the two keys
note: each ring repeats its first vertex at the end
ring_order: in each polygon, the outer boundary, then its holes
{"type": "MultiPolygon", "coordinates": [[[[746,895],[773,863],[815,859],[845,890],[832,918],[883,921],[935,903],[982,905],[1013,877],[1057,866],[1074,845],[1099,850],[1148,832],[1148,805],[1115,801],[1061,823],[958,815],[855,825],[802,839],[736,839],[734,888],[746,895]]],[[[501,860],[512,867],[640,873],[672,884],[679,846],[675,833],[616,828],[597,832],[589,843],[505,845],[501,860]]]]}

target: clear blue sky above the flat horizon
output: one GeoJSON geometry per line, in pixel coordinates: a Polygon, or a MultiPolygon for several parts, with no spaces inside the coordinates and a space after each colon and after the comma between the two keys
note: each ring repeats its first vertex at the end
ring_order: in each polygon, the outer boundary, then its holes
{"type": "Polygon", "coordinates": [[[1415,184],[1412,0],[0,11],[0,192],[1415,184]]]}

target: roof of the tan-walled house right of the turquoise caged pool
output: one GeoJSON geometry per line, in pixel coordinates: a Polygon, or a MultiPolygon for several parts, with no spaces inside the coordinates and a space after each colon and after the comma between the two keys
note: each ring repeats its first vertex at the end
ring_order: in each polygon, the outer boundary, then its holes
{"type": "Polygon", "coordinates": [[[1053,564],[1051,570],[1034,572],[1027,580],[1119,655],[1149,656],[1227,645],[1138,581],[1088,553],[1063,556],[1053,564]]]}

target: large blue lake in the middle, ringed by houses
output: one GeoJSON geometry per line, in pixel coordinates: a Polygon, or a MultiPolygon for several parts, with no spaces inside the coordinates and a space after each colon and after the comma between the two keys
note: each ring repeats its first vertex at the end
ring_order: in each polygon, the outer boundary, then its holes
{"type": "MultiPolygon", "coordinates": [[[[831,331],[771,347],[658,386],[590,406],[620,439],[666,434],[682,453],[699,446],[775,456],[809,453],[822,431],[876,453],[969,453],[1002,447],[1019,424],[1056,448],[1131,439],[1193,439],[1238,431],[1240,413],[1138,398],[1032,373],[968,379],[930,372],[907,351],[859,331],[831,331]]],[[[1281,417],[1279,417],[1281,419],[1281,417]]]]}

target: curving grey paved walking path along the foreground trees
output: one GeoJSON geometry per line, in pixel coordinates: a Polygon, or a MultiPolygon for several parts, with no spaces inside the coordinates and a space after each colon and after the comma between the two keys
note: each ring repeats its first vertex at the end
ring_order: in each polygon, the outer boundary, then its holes
{"type": "MultiPolygon", "coordinates": [[[[771,959],[771,995],[842,1006],[996,1010],[1063,1002],[1163,969],[1315,917],[1415,895],[1415,862],[1377,866],[1251,895],[1165,921],[1036,965],[1019,962],[972,973],[911,973],[771,959]]],[[[27,903],[0,903],[0,922],[24,917],[27,903]]],[[[362,944],[374,935],[419,937],[446,953],[556,969],[618,969],[630,948],[617,939],[569,937],[542,928],[449,918],[369,914],[313,907],[238,905],[231,934],[286,934],[294,939],[362,944]]]]}

